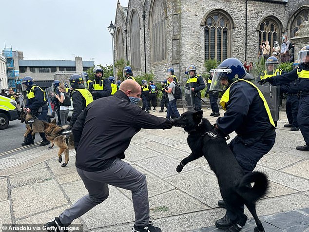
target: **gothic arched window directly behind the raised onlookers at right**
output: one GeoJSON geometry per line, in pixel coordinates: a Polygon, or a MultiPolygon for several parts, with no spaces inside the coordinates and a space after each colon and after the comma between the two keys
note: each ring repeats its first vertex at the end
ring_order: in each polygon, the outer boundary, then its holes
{"type": "Polygon", "coordinates": [[[262,45],[262,41],[268,40],[270,42],[270,51],[273,47],[273,42],[278,41],[281,43],[281,31],[280,25],[276,19],[266,18],[262,21],[259,27],[259,45],[262,45]]]}

